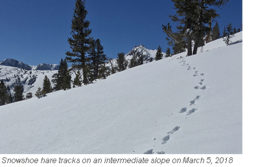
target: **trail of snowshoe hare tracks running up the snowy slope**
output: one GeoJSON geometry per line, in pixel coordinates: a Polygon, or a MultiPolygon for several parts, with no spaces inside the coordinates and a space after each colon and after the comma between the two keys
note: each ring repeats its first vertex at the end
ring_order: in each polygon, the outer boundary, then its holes
{"type": "MultiPolygon", "coordinates": [[[[179,63],[182,63],[181,66],[187,66],[187,70],[195,70],[194,71],[194,75],[193,77],[196,76],[204,76],[204,73],[199,73],[198,70],[196,70],[196,67],[191,68],[191,66],[186,63],[185,59],[181,59],[181,61],[179,63]]],[[[194,89],[196,90],[205,90],[206,86],[204,85],[204,81],[205,79],[200,79],[199,83],[197,86],[194,86],[194,89]]],[[[201,95],[196,95],[196,97],[194,99],[192,99],[192,101],[189,102],[189,106],[194,106],[196,104],[196,101],[198,101],[201,98],[201,95]]],[[[191,115],[192,113],[196,112],[196,108],[191,108],[188,109],[188,107],[183,107],[181,108],[179,113],[185,113],[186,116],[187,115],[191,115]]],[[[187,117],[185,117],[187,119],[187,117]]],[[[167,132],[167,135],[165,137],[163,137],[163,139],[161,140],[161,144],[165,144],[170,140],[170,135],[172,135],[174,132],[177,132],[178,130],[180,130],[180,126],[176,126],[174,127],[170,132],[167,132]]],[[[156,140],[156,138],[154,138],[154,140],[156,140]]],[[[165,154],[165,152],[161,151],[161,152],[155,152],[154,149],[150,149],[148,151],[145,152],[145,154],[165,154]]]]}

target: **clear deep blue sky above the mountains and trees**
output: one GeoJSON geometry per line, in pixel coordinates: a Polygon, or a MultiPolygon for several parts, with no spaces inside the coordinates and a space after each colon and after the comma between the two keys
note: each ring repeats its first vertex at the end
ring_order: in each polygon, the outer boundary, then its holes
{"type": "MultiPolygon", "coordinates": [[[[87,0],[87,20],[92,37],[101,40],[104,53],[116,58],[134,46],[163,52],[167,49],[162,25],[172,23],[175,14],[171,0],[87,0]]],[[[75,0],[1,0],[0,61],[13,58],[30,65],[59,64],[69,51],[71,19],[75,0]]],[[[242,0],[231,0],[218,9],[222,34],[225,25],[239,28],[242,23],[242,0]]]]}

